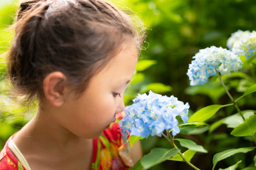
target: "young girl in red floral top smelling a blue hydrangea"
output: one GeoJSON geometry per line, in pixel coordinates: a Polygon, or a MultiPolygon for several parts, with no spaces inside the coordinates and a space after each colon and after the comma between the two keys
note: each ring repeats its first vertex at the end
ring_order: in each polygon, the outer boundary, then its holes
{"type": "Polygon", "coordinates": [[[117,124],[145,39],[132,18],[103,0],[20,3],[8,78],[24,106],[39,105],[1,170],[126,170],[142,157],[117,124]]]}

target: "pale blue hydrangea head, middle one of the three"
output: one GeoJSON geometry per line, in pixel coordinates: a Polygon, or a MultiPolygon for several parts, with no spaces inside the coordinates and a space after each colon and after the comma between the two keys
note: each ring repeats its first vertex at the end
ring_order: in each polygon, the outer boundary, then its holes
{"type": "Polygon", "coordinates": [[[233,52],[215,46],[199,50],[193,59],[187,72],[191,86],[206,83],[210,76],[216,75],[215,68],[221,75],[230,75],[231,71],[236,73],[241,69],[243,64],[233,52]]]}

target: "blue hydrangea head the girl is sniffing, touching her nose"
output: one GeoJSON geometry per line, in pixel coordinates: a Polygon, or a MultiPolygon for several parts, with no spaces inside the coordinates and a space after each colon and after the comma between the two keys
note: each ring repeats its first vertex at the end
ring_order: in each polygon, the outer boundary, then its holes
{"type": "Polygon", "coordinates": [[[134,136],[161,136],[165,129],[172,129],[172,135],[180,132],[176,116],[184,123],[188,120],[189,105],[171,97],[155,94],[151,90],[133,99],[134,104],[125,108],[125,117],[119,122],[122,139],[127,141],[127,132],[134,136]]]}

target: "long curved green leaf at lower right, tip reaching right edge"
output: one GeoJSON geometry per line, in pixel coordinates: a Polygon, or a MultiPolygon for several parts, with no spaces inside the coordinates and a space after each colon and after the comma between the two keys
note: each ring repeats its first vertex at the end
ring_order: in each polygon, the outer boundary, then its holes
{"type": "Polygon", "coordinates": [[[240,152],[247,153],[249,151],[252,151],[255,148],[256,147],[247,147],[247,148],[239,148],[239,149],[228,149],[228,150],[225,150],[223,152],[216,153],[214,155],[214,158],[213,158],[212,162],[213,162],[214,167],[215,167],[217,162],[219,162],[221,160],[224,160],[225,158],[230,157],[233,154],[240,153],[240,152]]]}

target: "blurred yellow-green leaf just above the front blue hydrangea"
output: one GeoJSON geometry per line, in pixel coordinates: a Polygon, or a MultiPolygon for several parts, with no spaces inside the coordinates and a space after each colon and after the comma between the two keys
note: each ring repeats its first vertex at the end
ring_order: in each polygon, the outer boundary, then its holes
{"type": "Polygon", "coordinates": [[[149,90],[152,90],[154,93],[166,93],[171,91],[171,86],[164,85],[160,82],[150,83],[146,86],[144,86],[139,93],[147,93],[149,90]]]}

